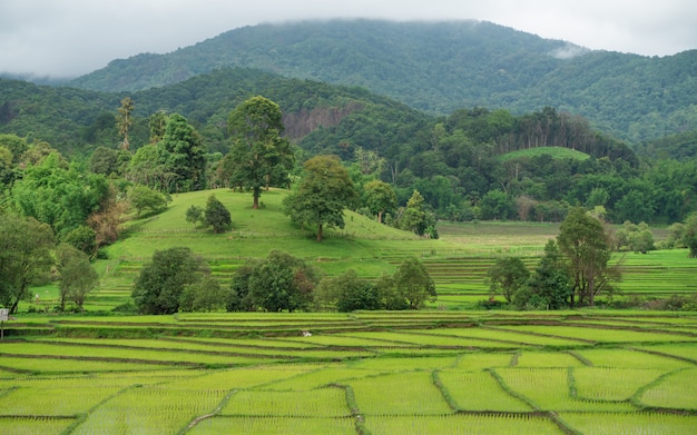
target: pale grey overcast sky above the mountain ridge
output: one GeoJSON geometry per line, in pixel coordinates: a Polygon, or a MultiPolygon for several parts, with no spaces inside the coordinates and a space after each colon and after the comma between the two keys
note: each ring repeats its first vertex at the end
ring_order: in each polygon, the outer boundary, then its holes
{"type": "Polygon", "coordinates": [[[0,0],[0,72],[72,77],[261,22],[475,19],[591,49],[697,48],[695,0],[0,0]]]}

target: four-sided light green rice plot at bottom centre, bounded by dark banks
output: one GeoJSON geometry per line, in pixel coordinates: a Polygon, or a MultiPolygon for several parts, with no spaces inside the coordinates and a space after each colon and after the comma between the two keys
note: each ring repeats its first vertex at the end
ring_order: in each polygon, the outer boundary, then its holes
{"type": "Polygon", "coordinates": [[[431,373],[390,374],[350,380],[365,415],[439,415],[451,412],[431,373]]]}

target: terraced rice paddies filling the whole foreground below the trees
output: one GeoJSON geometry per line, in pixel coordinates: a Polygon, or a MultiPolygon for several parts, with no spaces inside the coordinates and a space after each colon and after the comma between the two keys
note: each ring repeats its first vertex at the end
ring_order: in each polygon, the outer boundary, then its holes
{"type": "Polygon", "coordinates": [[[697,427],[697,314],[217,313],[17,324],[0,343],[2,434],[697,427]]]}

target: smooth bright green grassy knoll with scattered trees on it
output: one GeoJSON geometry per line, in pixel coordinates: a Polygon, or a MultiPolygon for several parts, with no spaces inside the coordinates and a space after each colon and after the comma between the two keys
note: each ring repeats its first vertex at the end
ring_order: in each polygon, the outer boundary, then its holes
{"type": "Polygon", "coordinates": [[[261,197],[262,208],[253,210],[249,194],[229,189],[179,194],[165,212],[129,223],[126,237],[107,253],[112,261],[140,264],[155,250],[188,246],[209,261],[234,266],[281,249],[314,261],[330,274],[355,268],[360,274],[379,276],[383,270],[392,271],[393,261],[409,255],[457,248],[443,240],[421,239],[348,210],[345,228],[327,229],[325,240],[317,243],[314,228],[300,228],[283,214],[282,200],[286,195],[286,190],[266,191],[261,197]],[[212,194],[230,210],[230,233],[216,235],[185,219],[188,207],[205,207],[212,194]]]}

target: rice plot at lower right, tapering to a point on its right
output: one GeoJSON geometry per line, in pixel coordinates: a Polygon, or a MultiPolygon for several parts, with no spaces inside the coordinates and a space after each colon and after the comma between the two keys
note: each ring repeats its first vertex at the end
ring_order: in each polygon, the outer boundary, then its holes
{"type": "Polygon", "coordinates": [[[621,402],[664,373],[657,368],[576,367],[573,379],[579,398],[621,402]]]}

